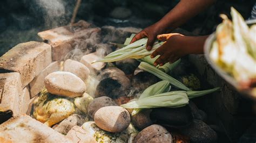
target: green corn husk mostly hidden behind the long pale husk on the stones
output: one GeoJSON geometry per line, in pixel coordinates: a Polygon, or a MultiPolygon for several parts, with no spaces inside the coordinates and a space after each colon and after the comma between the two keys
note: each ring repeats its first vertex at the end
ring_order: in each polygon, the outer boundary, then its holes
{"type": "MultiPolygon", "coordinates": [[[[145,89],[143,91],[142,95],[140,95],[139,99],[143,99],[143,98],[146,98],[146,97],[149,97],[149,96],[153,96],[153,95],[161,94],[161,93],[164,93],[164,92],[168,92],[168,91],[170,91],[170,89],[171,89],[171,86],[170,86],[169,81],[160,81],[160,82],[157,82],[157,83],[151,85],[147,89],[145,89]]],[[[140,111],[142,111],[142,109],[134,109],[132,111],[132,116],[136,115],[140,111]]]]}

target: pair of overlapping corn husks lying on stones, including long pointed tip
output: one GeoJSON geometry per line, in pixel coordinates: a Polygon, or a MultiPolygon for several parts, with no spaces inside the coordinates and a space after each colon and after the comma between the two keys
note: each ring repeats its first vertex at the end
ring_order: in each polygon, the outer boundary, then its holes
{"type": "Polygon", "coordinates": [[[139,99],[130,101],[121,106],[126,109],[134,109],[132,115],[136,115],[143,109],[149,108],[179,108],[188,104],[191,98],[211,94],[212,92],[220,90],[220,88],[202,91],[170,91],[170,89],[169,81],[160,81],[144,90],[139,99]]]}

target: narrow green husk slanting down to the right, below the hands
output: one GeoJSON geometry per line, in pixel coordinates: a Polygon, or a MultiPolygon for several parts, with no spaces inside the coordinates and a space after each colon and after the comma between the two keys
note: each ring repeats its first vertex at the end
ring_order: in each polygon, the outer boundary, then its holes
{"type": "Polygon", "coordinates": [[[170,75],[164,73],[164,71],[161,71],[160,69],[157,69],[154,66],[151,66],[149,63],[146,62],[140,62],[139,68],[142,70],[145,70],[153,75],[156,75],[157,77],[161,78],[162,80],[167,80],[176,88],[183,89],[185,91],[190,91],[189,88],[187,88],[183,83],[179,82],[175,78],[171,77],[170,75]]]}

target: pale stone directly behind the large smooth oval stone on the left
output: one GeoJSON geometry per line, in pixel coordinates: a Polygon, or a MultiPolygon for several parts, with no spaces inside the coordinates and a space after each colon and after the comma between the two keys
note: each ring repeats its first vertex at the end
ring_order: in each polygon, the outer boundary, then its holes
{"type": "Polygon", "coordinates": [[[83,81],[86,80],[90,74],[89,68],[84,66],[83,63],[70,59],[64,62],[63,71],[69,71],[80,77],[83,81]]]}

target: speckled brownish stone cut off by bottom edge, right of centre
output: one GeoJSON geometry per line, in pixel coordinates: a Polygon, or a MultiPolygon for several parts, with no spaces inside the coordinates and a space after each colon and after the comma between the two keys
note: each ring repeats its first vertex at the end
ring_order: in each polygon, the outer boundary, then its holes
{"type": "Polygon", "coordinates": [[[144,128],[134,139],[135,143],[141,142],[173,142],[172,135],[160,125],[151,125],[144,128]]]}

